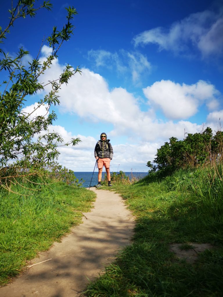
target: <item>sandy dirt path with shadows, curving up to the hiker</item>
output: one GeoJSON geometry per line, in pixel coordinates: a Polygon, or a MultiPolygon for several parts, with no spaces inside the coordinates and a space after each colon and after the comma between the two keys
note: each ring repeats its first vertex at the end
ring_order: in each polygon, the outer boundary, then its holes
{"type": "Polygon", "coordinates": [[[42,252],[11,284],[0,288],[1,297],[74,297],[84,290],[88,279],[114,259],[117,250],[129,244],[134,218],[122,198],[97,190],[94,208],[84,213],[83,224],[74,227],[61,243],[42,252]]]}

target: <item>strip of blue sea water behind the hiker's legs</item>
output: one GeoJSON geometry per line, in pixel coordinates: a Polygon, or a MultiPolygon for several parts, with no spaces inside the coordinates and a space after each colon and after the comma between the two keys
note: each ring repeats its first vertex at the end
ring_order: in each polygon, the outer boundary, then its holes
{"type": "MultiPolygon", "coordinates": [[[[98,172],[95,171],[94,173],[92,172],[74,172],[76,178],[78,178],[79,180],[81,178],[83,178],[84,183],[83,183],[83,187],[84,188],[88,188],[91,182],[91,187],[94,187],[95,185],[98,184],[98,172]],[[91,181],[92,178],[92,181],[91,181]]],[[[125,172],[126,176],[129,176],[131,178],[131,176],[136,177],[137,179],[143,178],[144,176],[147,176],[148,172],[125,172]]],[[[104,178],[104,172],[102,173],[102,178],[104,178]]]]}

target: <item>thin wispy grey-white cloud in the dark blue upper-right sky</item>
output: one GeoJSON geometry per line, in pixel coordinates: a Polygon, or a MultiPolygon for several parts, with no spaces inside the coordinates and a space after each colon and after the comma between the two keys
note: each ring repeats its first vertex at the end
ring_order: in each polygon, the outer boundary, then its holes
{"type": "Polygon", "coordinates": [[[134,37],[135,45],[154,43],[159,50],[189,53],[190,48],[200,50],[202,56],[223,53],[223,11],[197,12],[163,27],[144,31],[134,37]]]}

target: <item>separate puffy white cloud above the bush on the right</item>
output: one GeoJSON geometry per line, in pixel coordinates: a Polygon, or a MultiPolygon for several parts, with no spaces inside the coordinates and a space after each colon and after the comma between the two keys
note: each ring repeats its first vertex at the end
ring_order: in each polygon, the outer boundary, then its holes
{"type": "Polygon", "coordinates": [[[150,103],[161,108],[169,119],[187,119],[197,113],[199,105],[204,102],[209,108],[216,108],[218,101],[215,96],[219,91],[203,80],[192,85],[161,80],[143,89],[150,103]]]}

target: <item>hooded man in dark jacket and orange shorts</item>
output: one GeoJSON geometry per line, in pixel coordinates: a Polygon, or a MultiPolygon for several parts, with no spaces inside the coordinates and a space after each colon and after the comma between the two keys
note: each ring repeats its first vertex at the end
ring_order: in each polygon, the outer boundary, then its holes
{"type": "Polygon", "coordinates": [[[107,139],[106,133],[101,133],[100,140],[96,143],[95,146],[95,159],[98,160],[98,184],[97,188],[101,186],[101,176],[103,166],[105,167],[108,179],[108,186],[111,187],[111,175],[110,175],[110,161],[113,157],[112,145],[109,142],[110,139],[107,139]]]}

